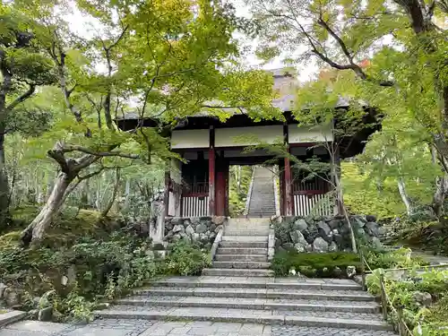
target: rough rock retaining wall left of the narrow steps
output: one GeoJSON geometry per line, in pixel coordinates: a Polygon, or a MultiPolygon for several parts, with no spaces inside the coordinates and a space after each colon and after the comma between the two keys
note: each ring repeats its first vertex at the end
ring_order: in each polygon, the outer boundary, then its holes
{"type": "Polygon", "coordinates": [[[185,239],[188,242],[200,243],[203,246],[213,241],[227,222],[226,217],[167,217],[165,218],[164,239],[168,243],[185,239]]]}

